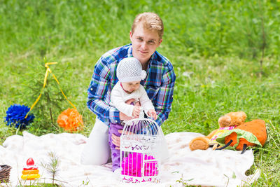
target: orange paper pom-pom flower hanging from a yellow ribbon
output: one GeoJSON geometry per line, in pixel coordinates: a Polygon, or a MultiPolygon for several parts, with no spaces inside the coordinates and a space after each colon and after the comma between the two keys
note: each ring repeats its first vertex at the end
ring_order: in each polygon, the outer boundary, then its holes
{"type": "Polygon", "coordinates": [[[76,109],[66,109],[59,114],[57,123],[66,131],[76,131],[83,129],[83,118],[76,109]]]}

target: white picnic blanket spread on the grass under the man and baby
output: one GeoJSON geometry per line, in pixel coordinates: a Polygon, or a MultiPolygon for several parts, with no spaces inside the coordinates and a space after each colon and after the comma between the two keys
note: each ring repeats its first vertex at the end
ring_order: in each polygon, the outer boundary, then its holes
{"type": "MultiPolygon", "coordinates": [[[[49,153],[59,158],[55,183],[62,186],[237,186],[252,183],[260,175],[246,176],[245,172],[253,165],[253,152],[246,151],[190,151],[188,143],[202,134],[193,132],[176,132],[167,134],[170,157],[161,167],[160,183],[131,184],[119,181],[111,172],[111,163],[102,166],[81,165],[80,153],[87,137],[82,134],[45,134],[36,137],[28,132],[23,136],[13,135],[0,146],[0,165],[10,165],[10,183],[18,186],[30,183],[52,183],[51,174],[42,167],[50,162],[49,153]],[[38,166],[41,179],[23,181],[20,179],[22,168],[28,158],[33,158],[38,166]]],[[[3,183],[1,183],[3,185],[3,183]]]]}

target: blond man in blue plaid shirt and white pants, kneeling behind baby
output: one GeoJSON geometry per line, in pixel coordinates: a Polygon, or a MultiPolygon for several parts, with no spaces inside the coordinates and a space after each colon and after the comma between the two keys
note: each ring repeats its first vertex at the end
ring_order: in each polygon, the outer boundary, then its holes
{"type": "MultiPolygon", "coordinates": [[[[158,125],[167,120],[173,101],[176,76],[171,62],[156,51],[162,43],[163,23],[155,13],[141,13],[134,19],[129,45],[109,50],[94,67],[92,81],[87,90],[87,106],[97,115],[90,137],[81,155],[86,165],[105,164],[110,155],[108,143],[109,123],[120,123],[132,118],[109,106],[111,90],[118,82],[116,68],[120,60],[135,57],[141,62],[147,77],[141,81],[155,106],[158,125]]],[[[120,146],[120,137],[112,135],[113,144],[120,146]]],[[[165,154],[167,155],[167,147],[165,154]]],[[[163,148],[163,149],[165,149],[163,148]]]]}

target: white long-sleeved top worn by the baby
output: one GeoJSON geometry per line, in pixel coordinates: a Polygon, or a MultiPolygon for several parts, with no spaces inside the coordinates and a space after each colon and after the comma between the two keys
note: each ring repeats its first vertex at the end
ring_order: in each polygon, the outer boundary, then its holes
{"type": "Polygon", "coordinates": [[[110,105],[115,106],[118,111],[125,113],[125,115],[132,117],[134,106],[125,103],[128,99],[135,99],[134,102],[139,101],[145,113],[147,113],[149,109],[155,109],[142,85],[132,93],[127,93],[120,85],[120,81],[118,81],[112,89],[110,105]]]}

